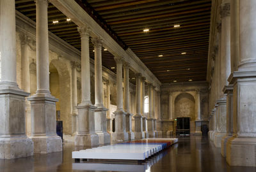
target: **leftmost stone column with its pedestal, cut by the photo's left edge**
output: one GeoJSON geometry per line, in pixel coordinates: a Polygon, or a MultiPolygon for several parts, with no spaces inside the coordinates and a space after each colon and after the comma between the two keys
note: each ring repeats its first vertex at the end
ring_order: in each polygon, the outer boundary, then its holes
{"type": "Polygon", "coordinates": [[[33,141],[26,136],[28,92],[16,82],[15,1],[2,0],[0,10],[0,159],[33,155],[33,141]]]}

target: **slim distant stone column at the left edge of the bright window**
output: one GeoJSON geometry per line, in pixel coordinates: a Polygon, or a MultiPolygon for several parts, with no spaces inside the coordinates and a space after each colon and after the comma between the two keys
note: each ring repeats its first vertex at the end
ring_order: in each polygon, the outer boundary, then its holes
{"type": "Polygon", "coordinates": [[[148,138],[148,129],[147,129],[147,117],[145,115],[145,80],[144,76],[141,77],[141,116],[142,116],[142,130],[145,135],[145,138],[148,138]]]}

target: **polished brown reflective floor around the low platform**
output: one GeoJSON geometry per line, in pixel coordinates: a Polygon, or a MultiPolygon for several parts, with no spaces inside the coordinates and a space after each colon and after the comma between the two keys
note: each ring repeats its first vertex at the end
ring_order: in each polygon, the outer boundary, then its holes
{"type": "Polygon", "coordinates": [[[71,159],[72,150],[75,150],[74,145],[65,143],[63,152],[0,160],[0,171],[256,171],[256,168],[252,167],[228,166],[225,159],[221,157],[220,148],[215,148],[207,138],[201,137],[179,138],[179,143],[142,164],[131,162],[75,163],[71,159]]]}

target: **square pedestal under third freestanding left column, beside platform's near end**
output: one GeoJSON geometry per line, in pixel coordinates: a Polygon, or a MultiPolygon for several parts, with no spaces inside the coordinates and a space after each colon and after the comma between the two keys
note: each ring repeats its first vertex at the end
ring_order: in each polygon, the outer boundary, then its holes
{"type": "Polygon", "coordinates": [[[95,133],[94,111],[96,107],[92,104],[79,104],[78,110],[78,132],[75,136],[76,146],[97,146],[99,136],[95,133]]]}

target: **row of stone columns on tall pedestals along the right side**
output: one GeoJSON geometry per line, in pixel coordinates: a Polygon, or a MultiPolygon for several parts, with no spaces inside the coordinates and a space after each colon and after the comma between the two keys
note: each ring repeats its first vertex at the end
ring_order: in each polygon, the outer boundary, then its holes
{"type": "MultiPolygon", "coordinates": [[[[223,96],[212,101],[216,105],[212,107],[209,134],[231,166],[256,166],[255,8],[253,0],[221,4],[221,74],[214,78],[221,82],[223,96]]],[[[214,73],[218,71],[215,69],[214,73]]]]}

